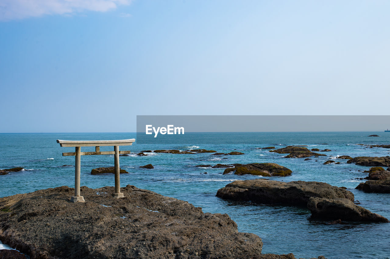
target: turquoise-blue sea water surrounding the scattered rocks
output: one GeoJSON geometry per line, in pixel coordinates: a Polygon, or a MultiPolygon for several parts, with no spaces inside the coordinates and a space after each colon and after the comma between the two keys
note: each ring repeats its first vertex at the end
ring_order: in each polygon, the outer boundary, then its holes
{"type": "MultiPolygon", "coordinates": [[[[186,133],[187,134],[187,133],[186,133]]],[[[49,187],[74,187],[74,157],[62,152],[74,148],[60,147],[63,140],[108,140],[135,138],[135,133],[2,133],[0,134],[0,169],[23,167],[26,170],[0,175],[0,197],[28,193],[49,187]],[[69,166],[62,166],[69,165],[69,166]]],[[[241,232],[259,235],[263,240],[263,253],[286,254],[298,257],[324,255],[334,258],[390,258],[390,224],[335,224],[309,219],[305,208],[280,205],[258,205],[249,202],[222,200],[217,190],[234,180],[257,179],[259,176],[222,175],[222,169],[196,168],[195,165],[217,163],[278,163],[290,168],[289,177],[267,177],[280,181],[320,181],[334,186],[345,186],[355,194],[355,201],[372,212],[390,219],[390,194],[363,193],[354,188],[364,180],[369,167],[347,164],[337,156],[390,156],[390,150],[369,148],[356,144],[390,144],[390,132],[299,132],[299,133],[193,133],[193,142],[185,145],[133,144],[119,147],[131,150],[130,156],[120,157],[120,166],[129,174],[121,174],[121,186],[131,184],[166,196],[188,201],[203,212],[227,213],[241,232]],[[210,136],[210,134],[212,136],[210,136]],[[381,137],[367,137],[377,134],[381,137]],[[203,138],[214,138],[215,144],[199,144],[203,138]],[[231,138],[231,144],[224,143],[231,138]],[[253,144],[248,143],[251,139],[253,144]],[[323,145],[326,144],[326,145],[323,145]],[[328,156],[304,161],[303,158],[283,158],[285,154],[256,149],[257,147],[284,147],[308,145],[309,149],[331,149],[322,152],[328,156]],[[240,151],[241,156],[211,156],[203,154],[149,154],[138,157],[142,150],[156,149],[212,149],[217,152],[240,151]],[[332,158],[331,158],[332,156],[332,158]],[[341,164],[323,165],[326,160],[341,164]],[[315,161],[317,160],[317,161],[315,161]],[[152,164],[152,170],[139,166],[152,164]],[[207,172],[207,174],[204,174],[207,172]]],[[[101,147],[111,151],[113,147],[101,147]]],[[[82,147],[94,151],[94,147],[82,147]]],[[[321,152],[320,152],[321,153],[321,152]]],[[[93,168],[113,166],[113,156],[82,156],[81,185],[90,188],[113,186],[113,175],[90,175],[93,168]]]]}

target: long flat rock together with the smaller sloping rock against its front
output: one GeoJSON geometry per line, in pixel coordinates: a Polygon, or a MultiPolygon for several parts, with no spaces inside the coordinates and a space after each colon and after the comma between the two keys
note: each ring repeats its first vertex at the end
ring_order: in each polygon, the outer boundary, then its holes
{"type": "Polygon", "coordinates": [[[216,196],[227,200],[306,206],[314,219],[388,222],[385,217],[355,205],[353,193],[345,187],[324,182],[234,181],[219,189],[216,196]],[[334,214],[332,210],[335,210],[334,214]]]}

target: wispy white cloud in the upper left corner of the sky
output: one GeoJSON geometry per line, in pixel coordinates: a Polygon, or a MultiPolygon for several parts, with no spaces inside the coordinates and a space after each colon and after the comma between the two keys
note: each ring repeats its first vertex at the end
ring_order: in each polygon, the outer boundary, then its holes
{"type": "Polygon", "coordinates": [[[130,2],[131,0],[0,0],[0,21],[88,10],[106,12],[130,2]]]}

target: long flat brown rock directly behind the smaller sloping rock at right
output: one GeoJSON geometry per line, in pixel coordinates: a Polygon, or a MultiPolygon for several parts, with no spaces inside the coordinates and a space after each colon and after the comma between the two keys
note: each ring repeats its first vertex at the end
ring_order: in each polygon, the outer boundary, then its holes
{"type": "Polygon", "coordinates": [[[262,179],[234,181],[219,189],[216,196],[228,200],[299,206],[306,206],[310,197],[354,200],[350,191],[324,182],[279,182],[262,179]]]}

